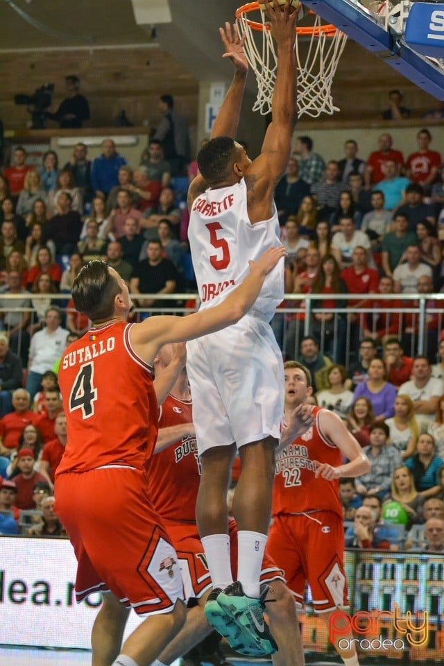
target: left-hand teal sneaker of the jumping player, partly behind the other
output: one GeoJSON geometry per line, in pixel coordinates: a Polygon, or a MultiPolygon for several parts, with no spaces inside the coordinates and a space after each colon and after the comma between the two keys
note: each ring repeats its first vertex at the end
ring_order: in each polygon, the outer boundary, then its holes
{"type": "Polygon", "coordinates": [[[203,610],[205,617],[211,626],[218,631],[223,638],[226,638],[233,650],[240,654],[250,657],[264,656],[268,654],[256,640],[252,640],[250,633],[244,630],[232,617],[225,613],[225,610],[219,606],[218,599],[221,595],[221,588],[214,588],[208,595],[207,603],[203,610]]]}

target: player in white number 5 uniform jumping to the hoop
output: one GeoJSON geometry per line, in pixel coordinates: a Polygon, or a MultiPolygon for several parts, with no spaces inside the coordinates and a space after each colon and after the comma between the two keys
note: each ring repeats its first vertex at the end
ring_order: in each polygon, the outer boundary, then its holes
{"type": "MultiPolygon", "coordinates": [[[[225,57],[234,79],[214,121],[210,141],[198,153],[200,173],[188,193],[189,243],[203,308],[221,302],[241,280],[243,261],[277,246],[275,185],[289,160],[296,123],[296,10],[289,0],[266,1],[271,35],[277,43],[278,72],[272,122],[262,152],[253,162],[234,141],[248,64],[243,40],[230,25],[221,29],[225,57]]],[[[284,262],[268,276],[244,325],[187,345],[202,477],[196,519],[213,592],[207,619],[219,614],[251,631],[264,652],[275,643],[263,620],[259,574],[271,516],[273,459],[282,429],[282,355],[269,321],[284,293],[284,262]],[[232,581],[225,504],[230,468],[239,448],[242,469],[233,500],[239,525],[238,581],[232,581]]],[[[233,623],[231,623],[233,624],[233,623]]]]}

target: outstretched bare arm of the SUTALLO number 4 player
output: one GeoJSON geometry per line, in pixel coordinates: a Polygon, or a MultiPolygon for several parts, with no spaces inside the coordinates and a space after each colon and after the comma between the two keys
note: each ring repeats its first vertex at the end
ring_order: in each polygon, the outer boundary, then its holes
{"type": "Polygon", "coordinates": [[[278,246],[266,250],[257,262],[250,262],[250,273],[219,305],[187,317],[151,317],[134,325],[130,332],[133,347],[151,363],[157,350],[166,343],[193,340],[236,323],[252,307],[266,275],[284,255],[284,248],[278,246]]]}

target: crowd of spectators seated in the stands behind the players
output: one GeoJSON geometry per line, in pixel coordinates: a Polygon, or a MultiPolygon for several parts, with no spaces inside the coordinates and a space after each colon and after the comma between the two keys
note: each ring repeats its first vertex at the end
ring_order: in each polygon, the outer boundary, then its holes
{"type": "MultiPolygon", "coordinates": [[[[12,511],[17,522],[17,510],[41,511],[36,501],[49,497],[43,522],[43,514],[37,527],[18,521],[18,530],[62,530],[51,515],[66,443],[54,370],[65,345],[88,327],[69,300],[80,268],[106,259],[142,310],[177,305],[145,293],[194,290],[186,275],[185,196],[197,164],[185,143],[179,160],[166,159],[174,119],[166,97],[164,122],[139,164],[129,165],[105,139],[95,160],[79,143],[64,167],[55,151],[31,167],[18,147],[0,175],[0,513],[12,511]],[[66,301],[55,300],[57,293],[66,301]]],[[[349,525],[355,545],[391,543],[377,529],[375,503],[398,503],[413,529],[427,520],[427,502],[444,498],[441,316],[427,299],[420,348],[419,300],[403,300],[439,291],[444,275],[444,168],[427,129],[417,141],[418,151],[404,159],[383,133],[364,160],[350,139],[343,156],[325,163],[310,137],[300,136],[275,191],[288,252],[285,290],[299,295],[282,303],[291,313],[278,309],[276,337],[284,357],[311,370],[314,401],[344,420],[373,463],[356,484],[341,484],[345,518],[356,520],[349,525]],[[307,314],[311,293],[323,296],[307,314]]]]}

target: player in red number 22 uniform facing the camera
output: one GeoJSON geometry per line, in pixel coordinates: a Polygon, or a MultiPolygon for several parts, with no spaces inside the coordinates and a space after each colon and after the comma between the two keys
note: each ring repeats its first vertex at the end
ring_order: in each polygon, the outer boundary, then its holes
{"type": "MultiPolygon", "coordinates": [[[[287,419],[312,387],[309,370],[297,361],[284,364],[284,377],[287,419]]],[[[312,413],[314,425],[278,449],[267,547],[284,570],[296,604],[302,604],[308,581],[314,608],[328,622],[332,611],[348,606],[339,478],[357,477],[370,463],[339,416],[322,407],[312,413]],[[343,456],[350,462],[343,464],[343,456]]],[[[354,647],[335,647],[347,666],[357,666],[354,647]]]]}

